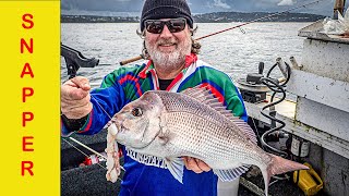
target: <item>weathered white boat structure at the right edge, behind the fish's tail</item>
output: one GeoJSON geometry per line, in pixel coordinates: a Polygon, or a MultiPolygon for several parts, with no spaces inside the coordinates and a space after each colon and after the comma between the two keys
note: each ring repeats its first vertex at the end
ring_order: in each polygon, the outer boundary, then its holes
{"type": "MultiPolygon", "coordinates": [[[[287,91],[297,98],[273,110],[285,122],[282,131],[292,135],[291,148],[299,149],[296,155],[317,171],[314,181],[323,188],[318,194],[345,196],[349,188],[349,38],[323,33],[324,24],[321,20],[299,30],[305,38],[302,59],[298,63],[290,58],[287,84],[287,91]]],[[[266,105],[245,101],[249,117],[262,124],[258,128],[273,123],[261,113],[266,105]]]]}

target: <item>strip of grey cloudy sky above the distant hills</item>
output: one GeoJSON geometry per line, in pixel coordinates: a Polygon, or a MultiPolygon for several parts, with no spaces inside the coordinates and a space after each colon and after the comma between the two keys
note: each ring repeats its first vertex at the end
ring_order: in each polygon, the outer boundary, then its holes
{"type": "MultiPolygon", "coordinates": [[[[133,12],[141,13],[144,0],[61,0],[62,13],[91,12],[133,12]]],[[[279,12],[314,0],[188,0],[193,13],[218,11],[279,12]]],[[[347,3],[348,4],[348,3],[347,3]]],[[[323,0],[297,12],[332,15],[334,0],[323,0]]]]}

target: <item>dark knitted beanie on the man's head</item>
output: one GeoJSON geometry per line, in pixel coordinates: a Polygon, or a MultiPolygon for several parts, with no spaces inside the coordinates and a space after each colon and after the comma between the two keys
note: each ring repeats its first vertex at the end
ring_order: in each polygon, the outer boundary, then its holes
{"type": "Polygon", "coordinates": [[[193,27],[193,17],[185,0],[145,0],[141,16],[141,30],[143,32],[146,20],[176,17],[186,19],[188,25],[193,27]]]}

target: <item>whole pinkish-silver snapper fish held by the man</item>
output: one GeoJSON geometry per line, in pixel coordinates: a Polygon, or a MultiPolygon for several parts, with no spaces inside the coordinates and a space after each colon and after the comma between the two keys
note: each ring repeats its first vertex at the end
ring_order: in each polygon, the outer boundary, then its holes
{"type": "Polygon", "coordinates": [[[254,164],[262,171],[266,195],[273,175],[309,169],[265,152],[253,130],[205,88],[146,91],[115,114],[109,125],[116,142],[164,159],[181,183],[183,156],[204,161],[221,181],[232,181],[254,164]]]}

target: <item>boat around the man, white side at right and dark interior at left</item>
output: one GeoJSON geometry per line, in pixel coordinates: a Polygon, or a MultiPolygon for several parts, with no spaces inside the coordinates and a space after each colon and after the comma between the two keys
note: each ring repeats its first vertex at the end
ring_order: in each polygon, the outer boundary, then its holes
{"type": "MultiPolygon", "coordinates": [[[[323,28],[324,21],[317,21],[299,30],[299,36],[304,37],[302,59],[299,62],[290,59],[291,72],[287,84],[287,91],[294,95],[296,99],[266,109],[267,101],[244,102],[250,125],[257,127],[261,134],[279,125],[263,115],[262,109],[266,113],[273,111],[276,119],[285,122],[285,127],[280,130],[288,136],[284,139],[285,145],[296,148],[296,151],[291,149],[294,159],[306,161],[318,174],[317,179],[313,177],[316,184],[314,193],[306,192],[306,188],[313,187],[300,185],[300,177],[303,176],[298,175],[298,183],[293,183],[293,174],[290,174],[290,180],[275,180],[269,187],[270,195],[348,195],[349,38],[324,34],[323,28]]],[[[253,91],[256,89],[254,87],[249,90],[253,91]]],[[[257,96],[268,91],[258,90],[257,96]]],[[[263,100],[269,98],[266,95],[263,100]]],[[[106,136],[107,131],[104,130],[94,137],[74,135],[74,138],[103,152],[106,136]]],[[[95,157],[89,150],[72,144],[69,138],[61,139],[61,195],[118,195],[120,181],[106,181],[105,162],[92,159],[95,157]]],[[[263,195],[261,184],[258,176],[243,175],[240,179],[239,195],[263,195]]]]}

